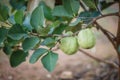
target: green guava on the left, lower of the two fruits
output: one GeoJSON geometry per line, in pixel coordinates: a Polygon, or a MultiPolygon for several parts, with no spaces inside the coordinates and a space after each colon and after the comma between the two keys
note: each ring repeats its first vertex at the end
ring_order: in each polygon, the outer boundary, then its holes
{"type": "Polygon", "coordinates": [[[76,37],[65,37],[61,39],[60,49],[68,55],[75,54],[78,50],[78,42],[76,37]]]}

